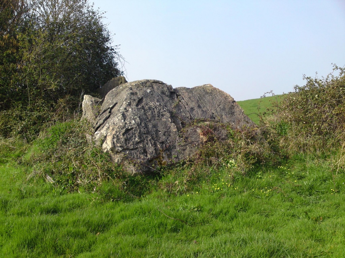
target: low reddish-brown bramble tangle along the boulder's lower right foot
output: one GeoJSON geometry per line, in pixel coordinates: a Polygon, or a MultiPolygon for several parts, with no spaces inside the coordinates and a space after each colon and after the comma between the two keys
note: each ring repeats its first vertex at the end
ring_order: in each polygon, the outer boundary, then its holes
{"type": "Polygon", "coordinates": [[[165,176],[159,187],[168,193],[183,194],[208,182],[215,173],[226,173],[230,180],[255,174],[257,170],[280,164],[284,157],[270,146],[261,129],[246,127],[231,129],[220,123],[199,121],[198,126],[207,141],[189,161],[162,168],[165,176]],[[227,139],[220,140],[213,133],[215,127],[226,129],[227,139]]]}

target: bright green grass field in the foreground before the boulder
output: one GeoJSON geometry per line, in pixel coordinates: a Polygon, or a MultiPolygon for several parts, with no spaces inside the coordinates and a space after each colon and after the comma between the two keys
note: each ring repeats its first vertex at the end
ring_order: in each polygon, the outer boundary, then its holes
{"type": "MultiPolygon", "coordinates": [[[[239,104],[248,113],[257,101],[239,104]]],[[[111,182],[67,193],[27,180],[32,168],[19,155],[0,159],[0,257],[345,257],[337,153],[296,155],[245,176],[210,168],[183,194],[161,186],[185,171],[166,171],[126,201],[111,182]]]]}

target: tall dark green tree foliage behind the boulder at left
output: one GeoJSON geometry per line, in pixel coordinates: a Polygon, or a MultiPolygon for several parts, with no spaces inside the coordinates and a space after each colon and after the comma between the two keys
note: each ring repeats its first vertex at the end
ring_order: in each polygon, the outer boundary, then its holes
{"type": "Polygon", "coordinates": [[[35,125],[59,119],[82,93],[121,74],[103,13],[87,0],[1,0],[0,6],[2,136],[37,133],[35,125]]]}

